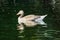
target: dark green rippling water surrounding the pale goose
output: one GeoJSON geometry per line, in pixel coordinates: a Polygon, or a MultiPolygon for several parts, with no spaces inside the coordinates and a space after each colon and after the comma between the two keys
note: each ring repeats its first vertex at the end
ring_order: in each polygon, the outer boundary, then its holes
{"type": "MultiPolygon", "coordinates": [[[[56,2],[60,3],[59,0],[56,2]]],[[[52,0],[0,0],[0,40],[60,40],[60,6],[52,0]],[[53,9],[54,8],[54,9],[53,9]],[[17,30],[16,13],[23,9],[25,15],[45,15],[46,27],[37,25],[17,30]]]]}

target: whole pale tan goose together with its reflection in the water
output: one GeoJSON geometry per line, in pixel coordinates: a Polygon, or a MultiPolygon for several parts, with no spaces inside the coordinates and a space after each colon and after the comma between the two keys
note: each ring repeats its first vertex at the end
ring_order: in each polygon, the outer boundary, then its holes
{"type": "Polygon", "coordinates": [[[27,15],[27,16],[24,16],[24,11],[23,10],[20,10],[17,15],[19,15],[18,17],[18,30],[23,30],[24,29],[24,26],[23,24],[25,24],[27,27],[33,27],[37,24],[40,24],[40,25],[47,25],[43,19],[47,16],[47,15],[42,15],[42,16],[39,16],[39,15],[27,15]],[[23,24],[22,24],[23,23],[23,24]]]}

